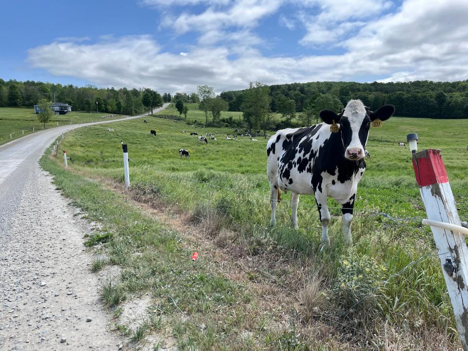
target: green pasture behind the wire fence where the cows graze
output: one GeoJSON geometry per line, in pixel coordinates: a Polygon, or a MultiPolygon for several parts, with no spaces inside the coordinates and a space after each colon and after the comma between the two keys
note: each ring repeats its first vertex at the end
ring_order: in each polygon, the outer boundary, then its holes
{"type": "MultiPolygon", "coordinates": [[[[201,116],[204,118],[203,111],[189,112],[189,120],[201,116]]],[[[370,332],[368,337],[373,338],[383,332],[381,326],[387,321],[395,330],[416,338],[439,335],[450,343],[456,340],[438,257],[429,256],[394,275],[411,261],[436,253],[430,230],[420,224],[425,211],[414,180],[409,148],[399,147],[398,141],[406,143],[408,133],[418,133],[420,150],[442,150],[460,216],[466,218],[468,120],[392,117],[382,128],[371,129],[366,147],[371,157],[366,159],[367,170],[358,188],[351,227],[353,244],[351,247],[342,244],[341,211],[329,199],[331,247],[321,252],[321,225],[312,196],[301,196],[298,231],[289,226],[289,194],[278,205],[277,227],[268,225],[267,139],[226,140],[223,134],[233,133],[233,129],[191,127],[184,121],[158,117],[146,119],[148,124],[142,118],[117,122],[112,133],[101,125],[67,136],[61,147],[73,158],[69,170],[87,178],[123,182],[120,146],[123,140],[128,144],[130,194],[135,199],[157,199],[194,214],[204,221],[207,236],[214,237],[222,247],[234,243],[253,258],[283,255],[290,264],[310,269],[320,277],[319,291],[326,296],[323,299],[326,302],[318,306],[321,313],[312,314],[324,323],[341,326],[336,332],[351,332],[359,339],[359,333],[366,330],[370,332]],[[151,129],[156,130],[156,137],[150,135],[151,129]],[[181,133],[182,130],[187,133],[181,133]],[[217,140],[209,140],[205,145],[197,142],[196,136],[190,136],[190,132],[199,135],[217,132],[217,140]],[[179,149],[189,150],[190,159],[180,159],[179,149]],[[402,219],[391,220],[382,213],[402,219]],[[223,229],[237,236],[219,243],[222,240],[216,237],[223,229]],[[331,311],[336,312],[333,317],[331,311]]],[[[269,133],[272,135],[274,131],[269,133]]],[[[55,165],[61,165],[60,158],[55,165]]],[[[288,275],[295,273],[285,274],[283,268],[273,268],[269,274],[275,277],[275,282],[287,285],[288,275]]],[[[294,306],[291,309],[295,328],[306,328],[304,321],[310,320],[310,311],[295,310],[294,306]]],[[[256,312],[260,313],[252,313],[256,312]]],[[[276,336],[261,337],[265,341],[276,336]]],[[[424,348],[431,349],[426,344],[424,348]]]]}

